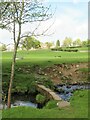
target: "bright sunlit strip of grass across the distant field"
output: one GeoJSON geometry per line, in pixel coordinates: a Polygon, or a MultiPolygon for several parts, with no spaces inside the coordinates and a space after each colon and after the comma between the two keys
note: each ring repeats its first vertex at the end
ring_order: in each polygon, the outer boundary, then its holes
{"type": "MultiPolygon", "coordinates": [[[[35,51],[19,51],[17,57],[23,57],[18,63],[29,62],[31,64],[54,64],[54,63],[72,63],[87,62],[88,53],[80,52],[55,52],[51,50],[35,50],[35,51]],[[51,61],[51,63],[48,61],[51,61]]],[[[10,62],[12,60],[12,52],[3,52],[2,61],[10,62]]]]}

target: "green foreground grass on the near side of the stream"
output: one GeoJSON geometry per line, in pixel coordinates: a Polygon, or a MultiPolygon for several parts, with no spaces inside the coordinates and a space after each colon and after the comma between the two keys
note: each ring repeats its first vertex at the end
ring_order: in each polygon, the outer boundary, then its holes
{"type": "MultiPolygon", "coordinates": [[[[89,91],[90,92],[90,91],[89,91]]],[[[58,109],[36,109],[16,107],[3,110],[3,118],[88,118],[88,91],[76,91],[70,107],[58,109]]]]}

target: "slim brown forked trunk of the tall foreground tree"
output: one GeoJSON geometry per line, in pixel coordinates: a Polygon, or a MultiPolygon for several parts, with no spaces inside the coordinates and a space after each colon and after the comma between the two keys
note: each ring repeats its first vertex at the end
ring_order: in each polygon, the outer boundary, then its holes
{"type": "MultiPolygon", "coordinates": [[[[8,89],[8,100],[7,100],[7,107],[11,108],[11,92],[12,92],[12,82],[14,79],[14,72],[15,72],[15,62],[16,62],[16,54],[17,54],[17,48],[20,41],[20,35],[21,35],[21,17],[24,9],[24,0],[22,2],[22,10],[20,11],[20,17],[18,18],[18,25],[19,25],[19,33],[17,37],[17,41],[15,41],[15,21],[14,21],[14,31],[13,31],[13,37],[14,37],[14,54],[13,54],[13,60],[12,60],[12,68],[11,68],[11,77],[10,77],[10,83],[9,83],[9,89],[8,89]]],[[[14,16],[15,20],[15,16],[14,16]]]]}

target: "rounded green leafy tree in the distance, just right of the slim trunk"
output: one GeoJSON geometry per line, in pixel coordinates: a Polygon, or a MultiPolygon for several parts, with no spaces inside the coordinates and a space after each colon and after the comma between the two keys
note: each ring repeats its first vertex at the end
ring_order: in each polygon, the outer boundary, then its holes
{"type": "Polygon", "coordinates": [[[36,40],[34,37],[27,37],[21,41],[22,48],[30,50],[31,48],[40,48],[40,41],[36,40]]]}

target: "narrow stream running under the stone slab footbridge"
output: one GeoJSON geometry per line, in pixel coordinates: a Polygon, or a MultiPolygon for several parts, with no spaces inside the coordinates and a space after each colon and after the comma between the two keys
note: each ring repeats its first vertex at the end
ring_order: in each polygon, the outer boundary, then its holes
{"type": "MultiPolygon", "coordinates": [[[[69,101],[75,90],[90,89],[88,85],[57,85],[55,86],[55,92],[65,101],[69,101]]],[[[37,108],[36,95],[17,95],[12,96],[11,107],[16,106],[30,106],[37,108]]],[[[5,108],[7,106],[5,105],[5,108]]]]}

